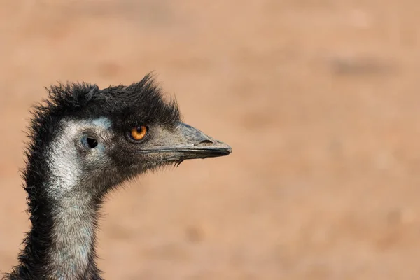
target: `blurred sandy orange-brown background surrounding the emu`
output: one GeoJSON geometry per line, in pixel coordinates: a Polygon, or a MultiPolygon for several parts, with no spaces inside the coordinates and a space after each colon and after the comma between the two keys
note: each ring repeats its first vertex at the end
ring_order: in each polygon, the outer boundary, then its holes
{"type": "Polygon", "coordinates": [[[29,107],[155,70],[233,148],[113,193],[106,279],[420,279],[418,0],[0,1],[0,270],[29,107]]]}

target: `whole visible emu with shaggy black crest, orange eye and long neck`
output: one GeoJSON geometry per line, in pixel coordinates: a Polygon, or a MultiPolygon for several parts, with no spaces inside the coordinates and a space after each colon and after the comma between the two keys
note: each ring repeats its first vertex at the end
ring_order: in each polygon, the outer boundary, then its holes
{"type": "Polygon", "coordinates": [[[31,109],[23,187],[30,230],[18,264],[3,279],[102,279],[97,228],[106,195],[148,171],[232,148],[183,123],[149,73],[102,90],[57,83],[31,109]]]}

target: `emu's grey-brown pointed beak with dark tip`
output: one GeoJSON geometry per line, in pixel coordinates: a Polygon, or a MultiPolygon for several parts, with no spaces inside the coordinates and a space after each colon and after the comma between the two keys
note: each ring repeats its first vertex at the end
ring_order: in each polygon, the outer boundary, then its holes
{"type": "Polygon", "coordinates": [[[165,161],[181,163],[195,158],[215,158],[232,153],[228,144],[204,134],[195,127],[180,123],[176,130],[162,131],[161,141],[142,153],[159,153],[165,161]]]}

